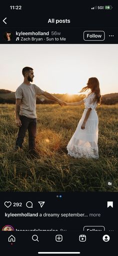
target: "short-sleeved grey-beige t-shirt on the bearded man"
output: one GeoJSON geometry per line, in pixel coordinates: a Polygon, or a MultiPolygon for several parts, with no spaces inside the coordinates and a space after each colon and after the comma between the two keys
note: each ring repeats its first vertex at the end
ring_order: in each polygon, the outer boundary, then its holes
{"type": "Polygon", "coordinates": [[[19,114],[36,118],[36,94],[41,95],[43,92],[35,84],[20,84],[15,92],[15,98],[21,99],[19,114]]]}

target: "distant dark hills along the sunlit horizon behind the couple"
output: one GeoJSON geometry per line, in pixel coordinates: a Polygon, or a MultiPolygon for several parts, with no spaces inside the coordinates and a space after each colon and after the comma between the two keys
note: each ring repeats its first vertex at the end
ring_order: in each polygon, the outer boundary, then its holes
{"type": "MultiPolygon", "coordinates": [[[[84,95],[78,95],[78,94],[73,94],[73,95],[68,95],[66,94],[52,94],[56,98],[59,98],[63,101],[66,102],[75,102],[82,100],[84,98],[84,95]]],[[[12,91],[5,90],[5,89],[0,89],[0,103],[11,103],[15,104],[15,94],[12,91]]],[[[43,95],[37,96],[36,98],[36,104],[54,104],[55,101],[49,100],[45,98],[43,95]]],[[[101,97],[101,104],[106,104],[106,105],[112,105],[118,103],[118,93],[109,93],[102,95],[101,97]]]]}

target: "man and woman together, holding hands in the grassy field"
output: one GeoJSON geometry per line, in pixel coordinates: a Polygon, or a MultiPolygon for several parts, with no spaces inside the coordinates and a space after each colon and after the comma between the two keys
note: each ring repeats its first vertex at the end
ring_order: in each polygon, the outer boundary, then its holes
{"type": "Polygon", "coordinates": [[[85,105],[84,112],[67,145],[68,155],[75,158],[98,159],[98,116],[95,110],[97,103],[100,103],[99,81],[96,77],[88,79],[87,85],[80,92],[90,90],[88,95],[81,101],[66,103],[48,92],[44,92],[38,86],[31,84],[34,73],[31,67],[22,69],[24,77],[23,83],[16,89],[15,98],[15,123],[19,126],[16,139],[15,150],[22,149],[23,139],[28,131],[28,155],[39,156],[36,151],[36,95],[44,95],[48,99],[54,100],[60,106],[85,105]]]}

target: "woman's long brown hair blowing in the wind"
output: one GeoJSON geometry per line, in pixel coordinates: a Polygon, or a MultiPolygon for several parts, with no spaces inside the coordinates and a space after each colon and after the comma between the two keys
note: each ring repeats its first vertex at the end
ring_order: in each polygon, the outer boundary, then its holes
{"type": "Polygon", "coordinates": [[[87,86],[83,87],[80,92],[86,91],[90,89],[91,92],[95,93],[94,102],[100,104],[101,102],[101,95],[100,95],[100,88],[99,88],[99,81],[96,77],[90,77],[87,81],[87,86]]]}

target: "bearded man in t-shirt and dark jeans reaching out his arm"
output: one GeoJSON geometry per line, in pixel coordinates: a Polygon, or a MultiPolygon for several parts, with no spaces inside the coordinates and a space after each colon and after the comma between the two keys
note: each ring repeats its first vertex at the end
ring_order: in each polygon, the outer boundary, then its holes
{"type": "Polygon", "coordinates": [[[56,101],[59,105],[63,105],[64,103],[50,93],[44,92],[35,84],[30,83],[33,81],[34,77],[32,68],[24,67],[22,69],[22,75],[24,81],[15,92],[15,123],[19,127],[15,149],[22,148],[23,139],[26,130],[28,130],[28,153],[30,155],[37,155],[35,149],[36,95],[43,95],[48,99],[56,101]]]}

